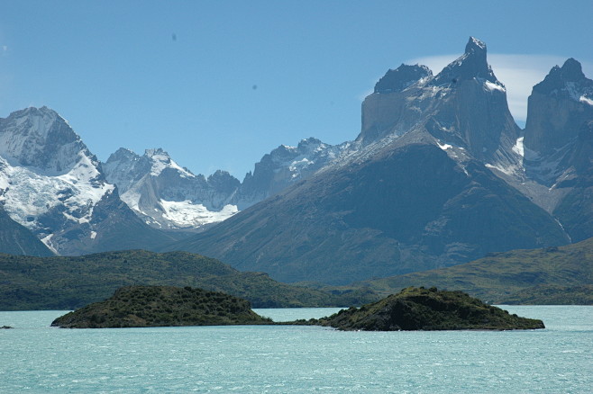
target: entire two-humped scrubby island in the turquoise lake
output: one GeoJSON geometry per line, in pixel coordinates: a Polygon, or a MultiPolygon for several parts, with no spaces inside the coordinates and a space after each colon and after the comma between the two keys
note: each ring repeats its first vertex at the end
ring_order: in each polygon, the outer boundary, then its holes
{"type": "Polygon", "coordinates": [[[251,310],[248,300],[191,287],[126,286],[104,301],[57,318],[53,327],[176,327],[302,325],[339,330],[514,330],[544,328],[542,320],[519,318],[462,291],[408,287],[360,309],[326,318],[275,323],[251,310]]]}

